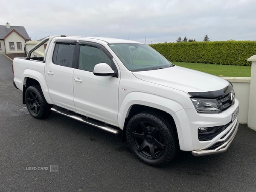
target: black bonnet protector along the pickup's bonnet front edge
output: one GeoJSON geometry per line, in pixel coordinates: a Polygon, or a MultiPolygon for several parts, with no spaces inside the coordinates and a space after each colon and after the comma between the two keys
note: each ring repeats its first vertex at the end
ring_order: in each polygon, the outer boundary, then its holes
{"type": "Polygon", "coordinates": [[[189,92],[189,94],[195,98],[215,99],[216,97],[227,95],[232,90],[233,90],[233,85],[229,83],[227,87],[221,90],[208,91],[208,92],[189,92]]]}

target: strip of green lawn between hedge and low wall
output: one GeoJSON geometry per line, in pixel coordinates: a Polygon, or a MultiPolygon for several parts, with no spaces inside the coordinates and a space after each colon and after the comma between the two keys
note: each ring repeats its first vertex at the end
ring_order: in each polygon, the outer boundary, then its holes
{"type": "Polygon", "coordinates": [[[201,64],[201,63],[184,63],[172,61],[172,64],[186,67],[193,70],[210,73],[215,76],[224,77],[250,77],[250,66],[237,66],[237,65],[216,65],[216,64],[201,64]]]}

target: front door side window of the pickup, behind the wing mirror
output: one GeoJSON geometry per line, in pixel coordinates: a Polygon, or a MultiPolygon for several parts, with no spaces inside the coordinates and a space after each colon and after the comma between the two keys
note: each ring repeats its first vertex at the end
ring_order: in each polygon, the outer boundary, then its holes
{"type": "Polygon", "coordinates": [[[93,72],[96,64],[107,63],[111,66],[111,59],[101,49],[91,45],[81,45],[79,53],[79,69],[93,72]]]}

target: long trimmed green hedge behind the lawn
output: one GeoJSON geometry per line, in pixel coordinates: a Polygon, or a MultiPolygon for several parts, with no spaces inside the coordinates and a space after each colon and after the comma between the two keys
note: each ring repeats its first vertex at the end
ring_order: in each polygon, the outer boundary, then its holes
{"type": "Polygon", "coordinates": [[[151,44],[169,61],[223,65],[247,65],[256,54],[256,41],[209,41],[151,44]]]}

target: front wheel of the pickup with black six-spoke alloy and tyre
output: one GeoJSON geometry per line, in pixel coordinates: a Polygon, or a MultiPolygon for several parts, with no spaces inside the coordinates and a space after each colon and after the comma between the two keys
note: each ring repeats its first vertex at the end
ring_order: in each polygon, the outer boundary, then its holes
{"type": "Polygon", "coordinates": [[[144,111],[127,124],[126,137],[131,151],[144,163],[162,166],[177,154],[177,137],[172,124],[157,113],[144,111]]]}

